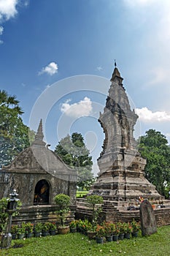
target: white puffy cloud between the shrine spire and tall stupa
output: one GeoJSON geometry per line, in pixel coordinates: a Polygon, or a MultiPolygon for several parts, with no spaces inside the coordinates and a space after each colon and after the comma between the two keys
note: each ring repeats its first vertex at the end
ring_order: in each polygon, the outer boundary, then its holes
{"type": "Polygon", "coordinates": [[[68,99],[61,105],[61,112],[66,113],[66,116],[79,118],[81,116],[89,116],[92,111],[92,102],[88,97],[80,100],[80,102],[69,104],[71,99],[68,99]]]}

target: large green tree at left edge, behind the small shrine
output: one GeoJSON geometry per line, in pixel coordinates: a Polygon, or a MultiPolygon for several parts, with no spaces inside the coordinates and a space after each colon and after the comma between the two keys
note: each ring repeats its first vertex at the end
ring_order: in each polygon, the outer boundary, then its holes
{"type": "MultiPolygon", "coordinates": [[[[0,167],[8,165],[20,151],[30,145],[28,127],[23,124],[23,113],[15,96],[0,90],[0,167]]],[[[34,132],[30,131],[31,138],[34,132]]]]}

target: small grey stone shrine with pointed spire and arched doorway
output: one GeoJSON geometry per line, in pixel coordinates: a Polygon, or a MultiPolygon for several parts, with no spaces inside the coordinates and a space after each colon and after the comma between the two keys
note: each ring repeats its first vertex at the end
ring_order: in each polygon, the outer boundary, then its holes
{"type": "Polygon", "coordinates": [[[63,193],[70,196],[74,205],[77,172],[47,148],[43,138],[41,120],[32,145],[2,168],[0,198],[16,189],[23,206],[53,205],[55,195],[63,193]]]}

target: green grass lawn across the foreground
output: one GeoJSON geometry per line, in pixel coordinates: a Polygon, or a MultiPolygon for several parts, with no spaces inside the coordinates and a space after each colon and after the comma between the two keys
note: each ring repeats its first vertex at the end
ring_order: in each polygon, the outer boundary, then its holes
{"type": "Polygon", "coordinates": [[[152,236],[124,239],[118,242],[96,244],[96,241],[88,240],[87,236],[80,233],[67,235],[47,236],[42,238],[30,238],[25,241],[12,241],[14,244],[23,244],[21,248],[0,249],[1,256],[37,255],[76,255],[76,256],[160,256],[169,255],[170,226],[158,228],[158,233],[152,236]]]}

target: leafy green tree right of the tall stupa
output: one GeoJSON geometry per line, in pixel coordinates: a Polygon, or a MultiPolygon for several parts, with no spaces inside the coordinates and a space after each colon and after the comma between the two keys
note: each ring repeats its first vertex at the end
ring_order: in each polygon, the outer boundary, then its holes
{"type": "MultiPolygon", "coordinates": [[[[147,159],[145,175],[161,195],[170,187],[170,146],[168,140],[155,129],[150,129],[140,138],[139,151],[147,159]]],[[[166,195],[167,196],[167,195],[166,195]]]]}

